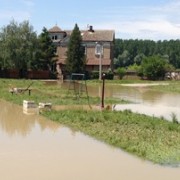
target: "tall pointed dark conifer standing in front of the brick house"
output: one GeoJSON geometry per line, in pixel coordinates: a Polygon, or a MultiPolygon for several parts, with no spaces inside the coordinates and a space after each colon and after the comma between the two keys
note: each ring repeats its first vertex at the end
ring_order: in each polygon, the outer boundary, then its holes
{"type": "Polygon", "coordinates": [[[82,36],[77,24],[70,36],[67,58],[66,70],[68,73],[83,73],[85,71],[86,58],[84,48],[82,46],[82,36]]]}

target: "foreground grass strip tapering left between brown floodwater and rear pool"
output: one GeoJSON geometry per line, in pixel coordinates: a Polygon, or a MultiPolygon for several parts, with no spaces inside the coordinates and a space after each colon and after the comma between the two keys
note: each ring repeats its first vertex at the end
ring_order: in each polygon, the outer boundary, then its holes
{"type": "Polygon", "coordinates": [[[130,111],[65,110],[48,118],[163,165],[180,164],[180,125],[130,111]]]}

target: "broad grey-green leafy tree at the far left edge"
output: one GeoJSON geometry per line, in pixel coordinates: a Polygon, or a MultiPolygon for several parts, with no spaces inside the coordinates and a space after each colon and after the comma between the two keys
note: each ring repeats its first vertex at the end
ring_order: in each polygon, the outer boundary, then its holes
{"type": "Polygon", "coordinates": [[[14,20],[0,32],[1,68],[27,70],[35,58],[37,35],[28,21],[14,20]]]}

